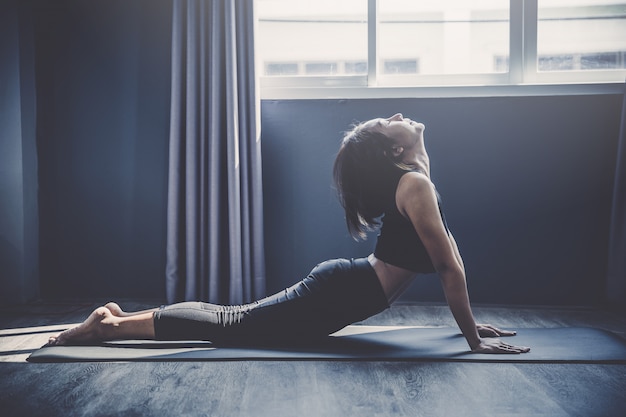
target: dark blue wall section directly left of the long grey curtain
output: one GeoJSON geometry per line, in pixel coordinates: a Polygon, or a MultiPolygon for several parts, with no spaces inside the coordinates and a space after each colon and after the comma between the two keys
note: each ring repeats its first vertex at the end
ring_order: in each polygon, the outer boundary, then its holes
{"type": "Polygon", "coordinates": [[[162,297],[171,2],[40,2],[44,297],[162,297]]]}

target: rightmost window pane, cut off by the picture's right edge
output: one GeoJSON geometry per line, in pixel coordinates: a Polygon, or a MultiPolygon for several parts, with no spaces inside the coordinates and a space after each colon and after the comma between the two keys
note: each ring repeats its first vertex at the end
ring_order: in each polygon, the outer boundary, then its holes
{"type": "Polygon", "coordinates": [[[626,1],[539,0],[539,71],[626,68],[626,1]]]}

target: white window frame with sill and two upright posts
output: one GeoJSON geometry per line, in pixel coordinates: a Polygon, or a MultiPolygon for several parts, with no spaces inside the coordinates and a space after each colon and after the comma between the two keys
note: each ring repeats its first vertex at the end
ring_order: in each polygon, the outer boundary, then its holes
{"type": "Polygon", "coordinates": [[[261,76],[262,99],[623,94],[626,70],[537,69],[539,0],[509,0],[509,71],[385,76],[378,59],[378,0],[368,2],[366,75],[261,76]]]}

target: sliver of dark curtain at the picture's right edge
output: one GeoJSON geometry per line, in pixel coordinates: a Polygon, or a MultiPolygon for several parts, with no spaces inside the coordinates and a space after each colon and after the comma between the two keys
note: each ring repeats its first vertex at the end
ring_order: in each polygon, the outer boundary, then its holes
{"type": "Polygon", "coordinates": [[[626,309],[626,88],[617,146],[606,295],[611,306],[626,309]]]}

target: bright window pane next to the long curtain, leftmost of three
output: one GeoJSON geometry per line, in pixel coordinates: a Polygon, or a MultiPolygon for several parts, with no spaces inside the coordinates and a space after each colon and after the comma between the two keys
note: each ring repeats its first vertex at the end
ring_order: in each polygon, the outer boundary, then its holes
{"type": "Polygon", "coordinates": [[[367,73],[367,0],[257,0],[261,75],[367,73]]]}

